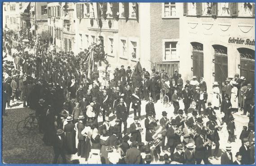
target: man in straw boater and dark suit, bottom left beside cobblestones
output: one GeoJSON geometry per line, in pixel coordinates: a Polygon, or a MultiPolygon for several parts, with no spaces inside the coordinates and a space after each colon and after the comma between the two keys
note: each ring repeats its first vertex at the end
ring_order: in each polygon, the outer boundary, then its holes
{"type": "Polygon", "coordinates": [[[66,157],[65,157],[65,140],[63,135],[63,130],[58,129],[57,135],[54,138],[54,144],[53,144],[53,152],[54,152],[54,159],[53,164],[57,164],[58,158],[61,155],[63,163],[66,163],[66,157]]]}

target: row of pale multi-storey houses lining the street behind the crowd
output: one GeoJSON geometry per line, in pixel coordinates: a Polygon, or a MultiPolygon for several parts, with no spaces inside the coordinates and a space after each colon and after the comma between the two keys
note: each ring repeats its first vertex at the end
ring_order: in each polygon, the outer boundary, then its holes
{"type": "Polygon", "coordinates": [[[235,73],[254,85],[254,3],[54,2],[46,7],[44,30],[57,50],[77,54],[100,41],[114,67],[140,60],[148,71],[177,69],[184,81],[204,77],[208,87],[235,73]]]}

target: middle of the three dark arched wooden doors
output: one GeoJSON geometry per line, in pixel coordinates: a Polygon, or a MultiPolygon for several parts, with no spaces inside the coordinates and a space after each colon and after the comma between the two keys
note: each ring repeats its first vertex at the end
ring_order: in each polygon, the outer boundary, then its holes
{"type": "Polygon", "coordinates": [[[228,77],[228,56],[215,54],[215,81],[220,85],[222,89],[222,82],[228,77]]]}

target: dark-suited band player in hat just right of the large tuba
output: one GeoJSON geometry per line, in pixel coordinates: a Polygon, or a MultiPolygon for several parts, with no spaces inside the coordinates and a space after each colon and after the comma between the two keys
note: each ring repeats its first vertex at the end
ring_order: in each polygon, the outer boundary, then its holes
{"type": "Polygon", "coordinates": [[[181,136],[177,134],[177,123],[175,119],[172,119],[171,126],[168,128],[166,132],[167,137],[167,146],[170,148],[171,156],[174,153],[174,150],[177,145],[181,144],[181,136]]]}

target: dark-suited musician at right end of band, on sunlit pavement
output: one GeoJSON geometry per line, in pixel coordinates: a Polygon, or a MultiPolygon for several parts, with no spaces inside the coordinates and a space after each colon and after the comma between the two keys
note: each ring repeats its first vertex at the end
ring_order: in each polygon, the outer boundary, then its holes
{"type": "MultiPolygon", "coordinates": [[[[218,157],[217,157],[217,153],[218,153],[219,148],[220,148],[220,143],[219,143],[220,137],[219,137],[219,134],[218,134],[219,128],[218,128],[218,125],[217,125],[217,122],[216,122],[217,117],[216,117],[216,115],[212,115],[212,116],[209,116],[208,118],[209,118],[209,121],[206,123],[206,127],[210,130],[209,139],[212,140],[215,143],[215,149],[214,149],[214,152],[213,152],[213,157],[216,160],[219,160],[218,157]]],[[[209,158],[212,159],[212,146],[209,146],[208,153],[209,153],[209,158]]]]}

